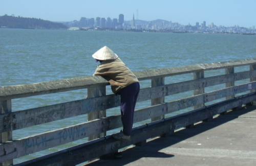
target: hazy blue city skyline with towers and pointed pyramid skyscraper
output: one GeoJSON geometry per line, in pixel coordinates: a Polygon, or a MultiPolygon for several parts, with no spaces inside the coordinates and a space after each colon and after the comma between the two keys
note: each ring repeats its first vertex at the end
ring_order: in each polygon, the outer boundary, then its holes
{"type": "Polygon", "coordinates": [[[238,25],[225,27],[215,25],[211,22],[207,25],[206,21],[196,22],[194,25],[182,25],[179,22],[172,22],[163,19],[152,21],[133,20],[124,21],[124,15],[119,14],[118,19],[108,17],[86,18],[80,20],[61,22],[69,30],[114,30],[114,31],[136,31],[136,32],[173,32],[173,33],[239,33],[256,34],[255,26],[250,28],[240,27],[238,25]]]}

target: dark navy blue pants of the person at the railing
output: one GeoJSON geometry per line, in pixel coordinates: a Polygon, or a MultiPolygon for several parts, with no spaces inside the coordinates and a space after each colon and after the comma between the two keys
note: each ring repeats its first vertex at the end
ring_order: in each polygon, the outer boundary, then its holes
{"type": "Polygon", "coordinates": [[[118,92],[121,96],[121,120],[124,135],[131,135],[132,133],[133,115],[139,91],[140,84],[136,82],[118,92]]]}

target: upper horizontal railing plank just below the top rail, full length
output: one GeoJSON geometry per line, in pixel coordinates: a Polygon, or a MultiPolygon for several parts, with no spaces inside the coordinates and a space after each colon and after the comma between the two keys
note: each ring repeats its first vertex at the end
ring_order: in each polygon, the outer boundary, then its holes
{"type": "MultiPolygon", "coordinates": [[[[205,85],[205,87],[208,87],[230,82],[233,79],[238,81],[248,79],[250,77],[256,77],[256,71],[239,72],[230,75],[213,76],[199,80],[190,80],[164,86],[144,88],[140,90],[137,101],[141,102],[169,96],[180,92],[194,90],[197,89],[197,87],[202,83],[205,85]]],[[[0,115],[0,122],[5,121],[5,126],[0,126],[0,132],[7,131],[7,129],[10,128],[10,125],[12,125],[12,130],[17,130],[29,126],[60,120],[63,118],[87,114],[92,111],[109,109],[119,105],[119,96],[115,96],[115,94],[109,94],[108,96],[99,98],[83,99],[51,106],[11,112],[9,114],[0,115]]]]}

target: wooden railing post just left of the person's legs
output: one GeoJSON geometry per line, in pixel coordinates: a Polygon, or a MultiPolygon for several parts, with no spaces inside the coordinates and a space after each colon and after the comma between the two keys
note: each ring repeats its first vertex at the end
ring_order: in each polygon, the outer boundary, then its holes
{"type": "MultiPolygon", "coordinates": [[[[95,97],[105,96],[106,95],[106,87],[105,86],[90,87],[90,88],[88,88],[87,93],[88,93],[87,98],[95,98],[95,97]]],[[[96,104],[101,104],[101,103],[96,103],[96,104]]],[[[94,112],[88,113],[88,121],[92,121],[92,120],[95,120],[97,118],[102,118],[102,117],[106,117],[106,110],[94,111],[94,112]]],[[[89,140],[103,137],[105,135],[106,135],[106,132],[104,131],[103,133],[100,133],[98,135],[89,136],[89,140]]]]}

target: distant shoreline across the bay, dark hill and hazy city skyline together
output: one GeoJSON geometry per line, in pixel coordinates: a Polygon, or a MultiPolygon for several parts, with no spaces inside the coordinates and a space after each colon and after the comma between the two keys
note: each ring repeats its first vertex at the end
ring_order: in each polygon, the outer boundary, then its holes
{"type": "Polygon", "coordinates": [[[240,27],[238,25],[225,27],[215,25],[214,22],[206,24],[206,21],[196,22],[194,25],[182,25],[179,22],[172,22],[163,19],[152,21],[133,20],[125,21],[124,15],[119,14],[118,19],[110,17],[86,18],[67,22],[49,22],[51,26],[46,26],[47,20],[40,18],[15,17],[14,15],[0,16],[0,28],[32,28],[32,29],[51,29],[61,28],[69,30],[114,30],[114,31],[135,31],[135,32],[172,32],[172,33],[234,33],[234,34],[256,34],[255,26],[250,28],[240,27]],[[28,21],[29,20],[29,21],[28,21]],[[39,21],[37,24],[31,24],[31,21],[39,21]],[[30,22],[26,24],[26,22],[30,22]],[[62,25],[62,26],[61,26],[62,25]]]}

